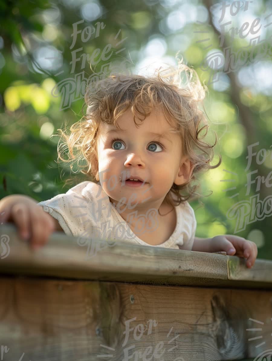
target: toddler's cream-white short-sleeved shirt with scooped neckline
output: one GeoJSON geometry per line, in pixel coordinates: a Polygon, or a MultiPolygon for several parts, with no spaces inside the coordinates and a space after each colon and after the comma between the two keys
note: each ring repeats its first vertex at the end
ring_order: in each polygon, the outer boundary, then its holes
{"type": "MultiPolygon", "coordinates": [[[[175,206],[177,224],[174,232],[164,243],[150,245],[138,238],[129,224],[120,216],[100,184],[84,181],[66,193],[42,201],[38,205],[59,221],[66,235],[82,238],[123,240],[151,247],[165,247],[191,251],[197,221],[193,208],[185,201],[175,206]]],[[[133,210],[131,210],[133,212],[133,210]]]]}

